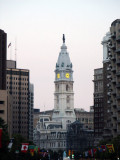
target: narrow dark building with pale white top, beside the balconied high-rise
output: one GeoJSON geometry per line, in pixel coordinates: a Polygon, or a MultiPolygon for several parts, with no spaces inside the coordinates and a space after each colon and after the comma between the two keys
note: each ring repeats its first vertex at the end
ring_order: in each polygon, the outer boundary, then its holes
{"type": "MultiPolygon", "coordinates": [[[[103,45],[103,109],[104,109],[104,130],[103,130],[103,138],[110,138],[110,101],[109,97],[111,95],[111,52],[110,52],[110,32],[107,32],[102,40],[103,45]]],[[[114,81],[112,81],[114,83],[114,81]]]]}

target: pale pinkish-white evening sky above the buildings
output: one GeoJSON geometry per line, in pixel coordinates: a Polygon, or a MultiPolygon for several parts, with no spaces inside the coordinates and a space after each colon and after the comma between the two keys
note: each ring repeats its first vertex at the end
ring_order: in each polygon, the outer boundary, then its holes
{"type": "Polygon", "coordinates": [[[54,70],[65,34],[74,70],[74,108],[89,111],[94,69],[102,67],[101,41],[119,18],[120,0],[0,0],[0,29],[12,44],[7,59],[30,70],[34,108],[54,108],[54,70]]]}

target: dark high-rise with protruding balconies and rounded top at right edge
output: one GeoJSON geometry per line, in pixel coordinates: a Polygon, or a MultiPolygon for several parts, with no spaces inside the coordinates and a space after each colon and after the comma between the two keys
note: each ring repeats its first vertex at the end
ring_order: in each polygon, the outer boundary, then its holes
{"type": "Polygon", "coordinates": [[[112,137],[120,135],[120,19],[110,27],[109,119],[112,137]]]}

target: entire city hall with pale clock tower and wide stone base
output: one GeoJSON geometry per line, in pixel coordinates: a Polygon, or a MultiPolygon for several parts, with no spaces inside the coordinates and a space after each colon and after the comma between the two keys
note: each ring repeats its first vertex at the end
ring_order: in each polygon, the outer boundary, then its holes
{"type": "MultiPolygon", "coordinates": [[[[82,133],[85,138],[85,135],[87,134],[86,137],[88,137],[88,133],[90,133],[93,141],[93,112],[74,109],[73,83],[72,63],[63,35],[63,44],[55,68],[54,109],[39,114],[39,120],[34,130],[34,143],[41,149],[64,151],[72,146],[72,149],[75,151],[75,145],[78,143],[72,145],[68,143],[71,141],[69,136],[71,124],[79,127],[79,123],[84,123],[84,127],[80,128],[76,133],[77,137],[82,133]],[[79,123],[76,123],[77,121],[79,123]]],[[[72,133],[72,138],[76,134],[72,133]]],[[[76,139],[79,145],[81,145],[81,139],[79,138],[79,141],[76,139]]],[[[87,139],[86,141],[88,142],[87,139]]],[[[85,147],[82,145],[83,149],[88,147],[87,144],[84,144],[85,147]]]]}

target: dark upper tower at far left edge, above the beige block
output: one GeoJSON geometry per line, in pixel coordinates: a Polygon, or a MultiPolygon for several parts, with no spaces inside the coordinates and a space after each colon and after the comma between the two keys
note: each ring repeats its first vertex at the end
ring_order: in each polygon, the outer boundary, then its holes
{"type": "Polygon", "coordinates": [[[7,34],[0,29],[0,89],[6,90],[7,34]]]}

